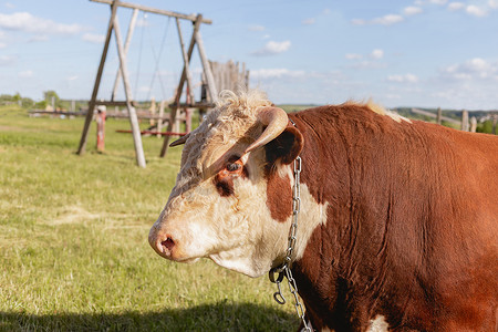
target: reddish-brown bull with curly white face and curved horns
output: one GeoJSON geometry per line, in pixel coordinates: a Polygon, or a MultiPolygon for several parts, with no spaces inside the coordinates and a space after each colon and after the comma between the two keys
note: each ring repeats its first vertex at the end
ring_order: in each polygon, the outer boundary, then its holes
{"type": "Polygon", "coordinates": [[[498,329],[498,137],[371,104],[287,115],[250,91],[226,92],[184,142],[149,234],[160,256],[279,266],[300,155],[292,272],[315,330],[498,329]]]}

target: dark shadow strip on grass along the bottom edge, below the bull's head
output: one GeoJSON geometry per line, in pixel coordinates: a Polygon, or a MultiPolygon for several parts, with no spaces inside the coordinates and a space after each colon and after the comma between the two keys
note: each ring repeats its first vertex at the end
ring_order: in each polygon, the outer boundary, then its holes
{"type": "Polygon", "coordinates": [[[251,303],[123,313],[0,312],[0,331],[297,331],[297,315],[251,303]]]}

